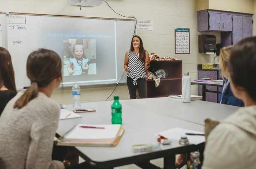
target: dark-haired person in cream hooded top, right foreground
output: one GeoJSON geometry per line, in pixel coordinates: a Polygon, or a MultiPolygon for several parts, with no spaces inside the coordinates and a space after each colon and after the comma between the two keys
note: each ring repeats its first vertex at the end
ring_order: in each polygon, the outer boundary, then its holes
{"type": "MultiPolygon", "coordinates": [[[[221,121],[206,138],[202,169],[255,168],[256,159],[256,37],[245,38],[231,49],[230,84],[244,101],[234,114],[221,121]]],[[[205,123],[205,127],[210,126],[205,123]]],[[[205,131],[206,136],[208,131],[205,131]]]]}

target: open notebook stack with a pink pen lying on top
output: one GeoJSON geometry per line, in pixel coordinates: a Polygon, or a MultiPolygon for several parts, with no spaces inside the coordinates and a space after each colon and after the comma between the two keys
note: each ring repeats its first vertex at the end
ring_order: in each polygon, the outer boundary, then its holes
{"type": "Polygon", "coordinates": [[[58,138],[58,146],[116,146],[124,129],[121,125],[77,124],[58,138]]]}

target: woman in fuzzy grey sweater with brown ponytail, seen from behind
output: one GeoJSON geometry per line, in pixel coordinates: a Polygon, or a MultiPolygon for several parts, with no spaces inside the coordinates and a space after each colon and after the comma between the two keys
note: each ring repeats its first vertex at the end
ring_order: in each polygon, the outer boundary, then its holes
{"type": "Polygon", "coordinates": [[[60,107],[50,96],[61,82],[60,57],[47,49],[32,52],[27,59],[27,76],[31,86],[10,100],[0,116],[0,166],[65,168],[51,159],[60,107]]]}

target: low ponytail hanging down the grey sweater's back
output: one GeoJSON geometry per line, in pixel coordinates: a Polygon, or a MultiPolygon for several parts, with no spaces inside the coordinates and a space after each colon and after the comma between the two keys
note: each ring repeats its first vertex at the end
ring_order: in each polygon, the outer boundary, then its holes
{"type": "Polygon", "coordinates": [[[22,107],[26,106],[30,100],[36,98],[38,93],[38,82],[33,81],[31,83],[31,86],[27,88],[25,93],[20,96],[20,98],[15,102],[13,107],[21,109],[22,107]]]}

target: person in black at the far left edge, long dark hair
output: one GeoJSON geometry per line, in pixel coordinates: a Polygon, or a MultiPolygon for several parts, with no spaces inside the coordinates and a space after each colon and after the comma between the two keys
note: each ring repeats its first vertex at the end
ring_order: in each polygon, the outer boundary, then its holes
{"type": "Polygon", "coordinates": [[[0,115],[9,102],[17,94],[11,55],[0,47],[0,115]]]}

